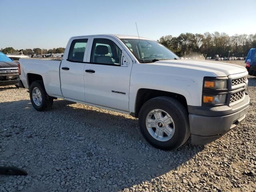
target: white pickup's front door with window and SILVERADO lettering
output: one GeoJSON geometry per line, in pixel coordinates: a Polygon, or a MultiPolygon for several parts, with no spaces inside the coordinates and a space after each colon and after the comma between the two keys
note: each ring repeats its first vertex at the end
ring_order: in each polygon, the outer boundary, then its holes
{"type": "Polygon", "coordinates": [[[121,66],[128,56],[113,38],[94,38],[91,47],[85,64],[86,103],[128,112],[132,61],[121,66]]]}

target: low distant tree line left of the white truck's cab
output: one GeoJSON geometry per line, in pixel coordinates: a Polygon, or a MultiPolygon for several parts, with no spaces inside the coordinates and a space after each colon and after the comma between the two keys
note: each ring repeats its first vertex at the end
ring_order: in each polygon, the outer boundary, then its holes
{"type": "MultiPolygon", "coordinates": [[[[42,54],[50,54],[50,53],[64,53],[65,48],[63,47],[59,47],[59,48],[53,48],[53,49],[40,49],[40,48],[34,48],[34,49],[24,49],[22,52],[24,55],[32,55],[32,54],[36,54],[36,55],[40,55],[42,54]]],[[[7,53],[18,53],[19,50],[15,50],[12,47],[6,47],[4,49],[0,49],[0,52],[7,54],[7,53]]]]}

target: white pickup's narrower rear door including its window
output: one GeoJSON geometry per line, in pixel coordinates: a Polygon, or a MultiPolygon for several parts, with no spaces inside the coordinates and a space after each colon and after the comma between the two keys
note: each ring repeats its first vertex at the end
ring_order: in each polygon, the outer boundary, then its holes
{"type": "Polygon", "coordinates": [[[74,39],[60,65],[61,91],[65,98],[85,102],[84,67],[90,38],[74,39]]]}

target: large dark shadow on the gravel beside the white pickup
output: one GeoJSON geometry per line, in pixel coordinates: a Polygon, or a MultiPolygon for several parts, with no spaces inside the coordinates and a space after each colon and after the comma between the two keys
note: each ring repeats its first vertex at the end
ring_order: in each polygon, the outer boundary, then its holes
{"type": "Polygon", "coordinates": [[[160,182],[158,176],[186,166],[204,149],[190,140],[174,151],[153,148],[136,118],[65,100],[55,100],[46,112],[34,110],[29,100],[2,102],[0,108],[1,164],[28,172],[28,192],[62,191],[79,182],[81,191],[102,192],[160,182]]]}

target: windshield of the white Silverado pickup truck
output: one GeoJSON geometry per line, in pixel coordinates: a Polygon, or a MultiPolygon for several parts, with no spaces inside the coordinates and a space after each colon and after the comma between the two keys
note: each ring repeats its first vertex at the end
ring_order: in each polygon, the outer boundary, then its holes
{"type": "Polygon", "coordinates": [[[179,59],[168,48],[153,40],[121,39],[140,63],[179,59]]]}

